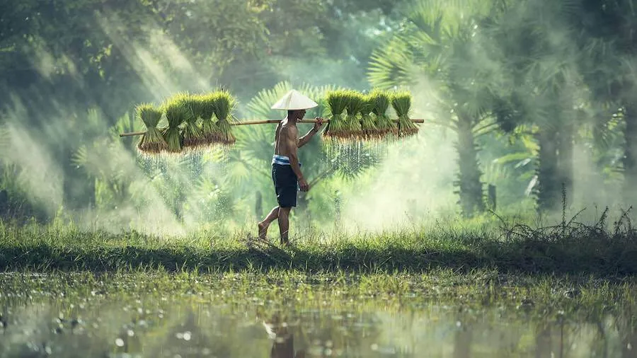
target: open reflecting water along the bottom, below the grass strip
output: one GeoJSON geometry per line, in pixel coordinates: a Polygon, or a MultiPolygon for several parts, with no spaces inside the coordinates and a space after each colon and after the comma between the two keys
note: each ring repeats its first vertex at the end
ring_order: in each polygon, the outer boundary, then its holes
{"type": "Polygon", "coordinates": [[[631,306],[591,315],[200,297],[4,305],[0,357],[637,357],[631,306]]]}

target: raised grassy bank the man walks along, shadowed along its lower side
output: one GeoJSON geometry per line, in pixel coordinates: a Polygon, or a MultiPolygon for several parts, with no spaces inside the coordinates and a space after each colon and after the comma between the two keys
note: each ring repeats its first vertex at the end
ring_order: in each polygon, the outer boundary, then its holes
{"type": "Polygon", "coordinates": [[[280,248],[248,233],[198,233],[162,238],[110,234],[74,226],[0,224],[0,270],[114,271],[301,270],[304,272],[426,272],[452,269],[528,274],[637,273],[637,233],[630,225],[604,229],[563,223],[532,228],[431,226],[361,236],[309,237],[280,248]]]}

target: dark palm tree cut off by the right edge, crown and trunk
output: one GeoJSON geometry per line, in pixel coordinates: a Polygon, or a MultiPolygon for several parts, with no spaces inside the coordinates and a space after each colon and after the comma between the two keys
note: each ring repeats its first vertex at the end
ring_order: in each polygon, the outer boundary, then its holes
{"type": "MultiPolygon", "coordinates": [[[[637,185],[637,1],[580,0],[578,12],[567,18],[577,30],[580,70],[598,102],[615,103],[623,122],[624,198],[635,200],[637,185]]],[[[607,115],[606,127],[614,117],[607,115]]]]}

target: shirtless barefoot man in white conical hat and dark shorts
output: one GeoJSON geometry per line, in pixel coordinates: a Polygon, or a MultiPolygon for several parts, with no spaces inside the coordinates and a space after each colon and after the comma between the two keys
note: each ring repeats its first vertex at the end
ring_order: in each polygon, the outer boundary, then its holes
{"type": "Polygon", "coordinates": [[[316,117],[316,123],[307,134],[299,139],[297,121],[302,120],[305,110],[318,106],[314,100],[303,96],[297,91],[289,91],[275,105],[273,110],[287,110],[287,117],[277,125],[275,134],[275,154],[272,156],[272,181],[277,193],[278,206],[258,223],[259,238],[265,240],[268,226],[279,219],[281,244],[288,245],[289,212],[297,206],[297,190],[309,190],[307,180],[301,172],[301,163],[297,149],[301,148],[314,137],[323,125],[323,118],[316,117]]]}

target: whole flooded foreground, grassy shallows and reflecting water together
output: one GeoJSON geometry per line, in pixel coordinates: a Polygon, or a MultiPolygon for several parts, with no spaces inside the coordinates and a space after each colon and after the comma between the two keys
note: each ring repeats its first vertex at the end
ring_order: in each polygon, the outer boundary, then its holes
{"type": "Polygon", "coordinates": [[[637,306],[619,296],[284,281],[5,274],[0,357],[637,357],[637,306]]]}

